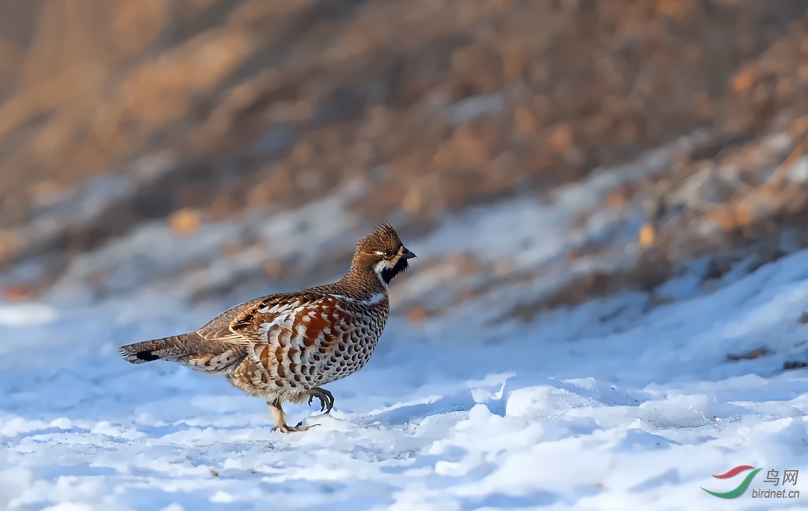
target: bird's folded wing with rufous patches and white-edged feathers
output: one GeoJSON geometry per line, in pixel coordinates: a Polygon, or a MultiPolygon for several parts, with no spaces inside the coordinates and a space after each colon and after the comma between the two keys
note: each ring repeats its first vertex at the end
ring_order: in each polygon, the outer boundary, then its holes
{"type": "Polygon", "coordinates": [[[350,336],[350,309],[339,295],[280,294],[242,311],[229,329],[250,341],[248,353],[265,370],[256,378],[277,386],[316,384],[316,375],[335,363],[335,349],[344,348],[350,336]]]}

